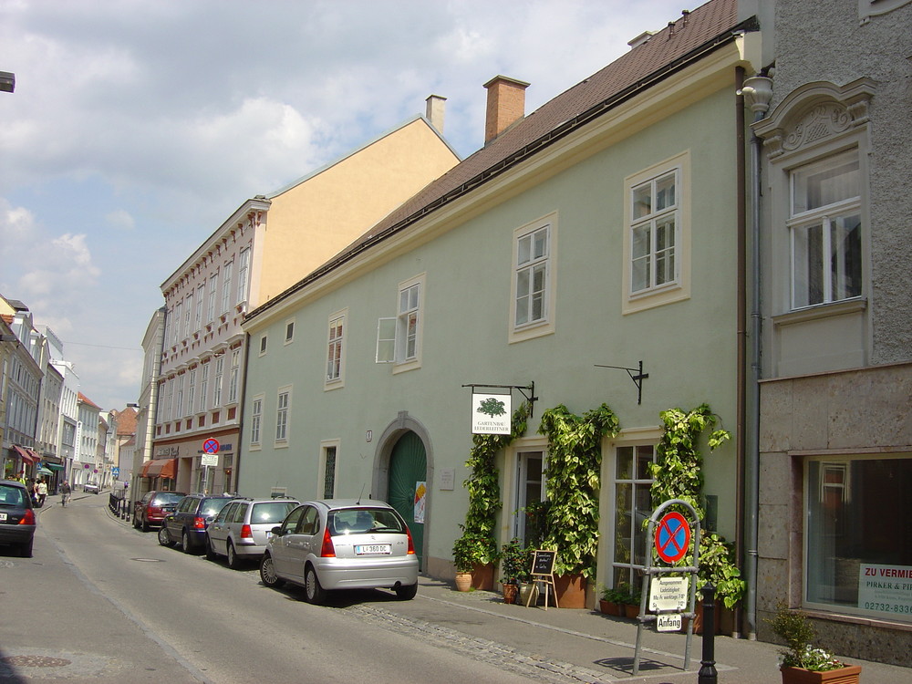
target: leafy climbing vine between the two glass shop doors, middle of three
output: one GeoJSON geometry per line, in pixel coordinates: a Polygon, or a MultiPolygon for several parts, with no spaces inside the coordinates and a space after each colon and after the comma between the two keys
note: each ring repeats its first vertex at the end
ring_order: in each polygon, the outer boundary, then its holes
{"type": "Polygon", "coordinates": [[[618,430],[617,416],[606,404],[582,416],[560,404],[542,416],[538,431],[548,439],[548,508],[542,545],[557,549],[557,575],[595,576],[601,442],[618,430]]]}

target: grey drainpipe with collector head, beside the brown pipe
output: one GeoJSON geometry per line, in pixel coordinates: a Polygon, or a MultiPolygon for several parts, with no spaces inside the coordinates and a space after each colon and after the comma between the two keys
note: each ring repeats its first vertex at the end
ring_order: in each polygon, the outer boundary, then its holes
{"type": "MultiPolygon", "coordinates": [[[[765,70],[761,72],[765,74],[765,70]]],[[[765,75],[748,78],[741,90],[753,112],[756,123],[770,109],[772,99],[772,78],[765,75]]],[[[756,133],[751,133],[751,420],[748,421],[746,435],[745,487],[744,504],[747,515],[746,544],[744,556],[744,574],[747,582],[745,612],[747,620],[747,637],[757,638],[757,557],[758,557],[758,517],[760,509],[760,378],[761,372],[761,223],[760,198],[761,159],[763,141],[756,133]]]]}

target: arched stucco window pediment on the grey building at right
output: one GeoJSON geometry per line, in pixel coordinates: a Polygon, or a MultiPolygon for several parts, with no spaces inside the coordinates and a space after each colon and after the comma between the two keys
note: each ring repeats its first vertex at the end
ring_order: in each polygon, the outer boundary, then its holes
{"type": "Polygon", "coordinates": [[[753,129],[771,161],[829,142],[867,124],[874,86],[870,78],[858,78],[842,87],[826,81],[807,83],[789,93],[753,129]]]}

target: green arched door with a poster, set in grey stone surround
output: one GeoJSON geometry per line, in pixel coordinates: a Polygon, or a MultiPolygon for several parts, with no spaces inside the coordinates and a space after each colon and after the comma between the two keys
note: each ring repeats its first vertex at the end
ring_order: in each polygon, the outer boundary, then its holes
{"type": "Polygon", "coordinates": [[[414,432],[399,438],[389,457],[389,505],[409,523],[419,563],[424,556],[424,505],[427,502],[428,459],[414,432]],[[419,520],[416,520],[416,516],[419,520]]]}

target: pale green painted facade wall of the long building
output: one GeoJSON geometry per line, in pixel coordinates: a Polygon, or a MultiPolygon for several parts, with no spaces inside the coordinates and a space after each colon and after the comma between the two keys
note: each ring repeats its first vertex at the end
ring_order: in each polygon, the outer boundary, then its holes
{"type": "MultiPolygon", "coordinates": [[[[370,488],[378,438],[400,411],[430,436],[428,553],[450,558],[466,495],[464,461],[471,447],[471,390],[465,383],[524,385],[539,397],[530,434],[545,409],[564,403],[575,412],[606,402],[622,428],[658,426],[658,412],[708,402],[734,430],[736,396],[735,121],[733,88],[636,136],[596,153],[531,190],[494,206],[456,230],[423,244],[356,282],[263,328],[247,326],[251,352],[244,399],[264,394],[263,448],[250,451],[244,428],[240,492],[268,494],[285,485],[299,497],[321,494],[321,440],[340,440],[337,492],[370,488]],[[621,286],[624,179],[689,150],[692,187],[689,300],[623,316],[621,286]],[[556,331],[507,342],[513,229],[557,212],[556,331]],[[400,282],[426,274],[420,369],[393,375],[376,364],[378,317],[395,316],[400,282]],[[326,331],[331,313],[347,308],[345,388],[325,391],[326,331]],[[285,321],[295,339],[283,345],[285,321]],[[259,337],[268,351],[257,355],[259,337]],[[643,402],[623,370],[645,363],[643,402]],[[274,449],[276,388],[293,385],[290,440],[274,449]],[[366,440],[372,430],[373,440],[366,440]],[[456,487],[441,491],[440,470],[456,470],[456,487]]],[[[687,191],[685,191],[687,192],[687,191]]],[[[520,396],[514,393],[514,402],[520,396]]],[[[720,527],[733,537],[735,456],[726,446],[707,461],[707,492],[720,496],[720,527]]],[[[505,506],[504,510],[509,506],[505,506]]]]}

